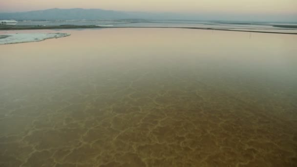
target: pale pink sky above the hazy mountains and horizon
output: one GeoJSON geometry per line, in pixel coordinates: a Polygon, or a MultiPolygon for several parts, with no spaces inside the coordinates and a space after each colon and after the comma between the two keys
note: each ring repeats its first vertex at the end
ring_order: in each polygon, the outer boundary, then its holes
{"type": "Polygon", "coordinates": [[[297,14],[297,0],[0,0],[0,12],[49,8],[295,15],[297,14]]]}

